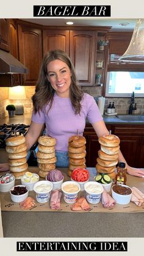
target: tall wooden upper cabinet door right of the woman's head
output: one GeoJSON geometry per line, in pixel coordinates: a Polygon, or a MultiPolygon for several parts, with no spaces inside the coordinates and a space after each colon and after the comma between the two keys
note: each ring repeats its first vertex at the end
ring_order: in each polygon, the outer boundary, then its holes
{"type": "Polygon", "coordinates": [[[95,31],[70,31],[70,58],[81,86],[93,86],[95,31]]]}

